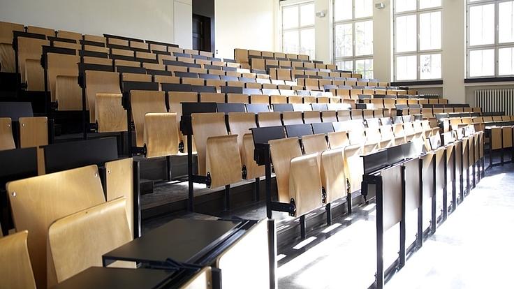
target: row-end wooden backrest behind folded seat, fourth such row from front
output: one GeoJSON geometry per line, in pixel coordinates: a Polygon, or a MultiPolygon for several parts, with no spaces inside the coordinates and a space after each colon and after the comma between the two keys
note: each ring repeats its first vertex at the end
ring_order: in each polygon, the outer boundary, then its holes
{"type": "MultiPolygon", "coordinates": [[[[119,73],[86,71],[86,98],[89,103],[89,119],[96,119],[96,94],[121,94],[119,73]]],[[[101,117],[101,116],[99,116],[101,117]]]]}

